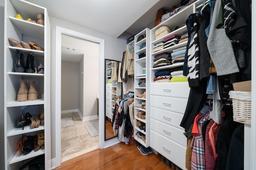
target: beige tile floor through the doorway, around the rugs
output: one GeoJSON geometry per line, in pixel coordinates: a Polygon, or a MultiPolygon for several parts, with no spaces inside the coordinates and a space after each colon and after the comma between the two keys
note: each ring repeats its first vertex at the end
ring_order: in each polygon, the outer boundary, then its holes
{"type": "Polygon", "coordinates": [[[91,137],[84,126],[87,121],[82,122],[77,112],[61,114],[61,118],[68,117],[73,126],[61,128],[61,162],[100,148],[99,136],[91,137]]]}

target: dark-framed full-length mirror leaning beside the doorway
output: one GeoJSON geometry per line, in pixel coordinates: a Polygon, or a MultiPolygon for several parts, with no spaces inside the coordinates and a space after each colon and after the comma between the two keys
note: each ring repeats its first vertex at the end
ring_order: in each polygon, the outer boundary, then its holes
{"type": "Polygon", "coordinates": [[[122,83],[118,82],[119,65],[120,61],[105,59],[105,140],[117,136],[112,120],[116,100],[122,95],[122,83]]]}

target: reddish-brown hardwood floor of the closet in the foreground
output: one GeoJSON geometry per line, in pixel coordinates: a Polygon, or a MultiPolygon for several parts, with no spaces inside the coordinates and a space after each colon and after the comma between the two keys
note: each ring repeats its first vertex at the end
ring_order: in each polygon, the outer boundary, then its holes
{"type": "Polygon", "coordinates": [[[67,162],[54,170],[165,170],[160,155],[154,153],[144,156],[137,144],[124,142],[105,149],[98,149],[67,162]]]}

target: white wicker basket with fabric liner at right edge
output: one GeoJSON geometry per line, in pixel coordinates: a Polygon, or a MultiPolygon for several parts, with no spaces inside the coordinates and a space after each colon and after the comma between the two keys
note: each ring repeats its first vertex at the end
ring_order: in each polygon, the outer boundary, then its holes
{"type": "Polygon", "coordinates": [[[251,92],[230,91],[233,103],[233,120],[251,125],[251,92]]]}

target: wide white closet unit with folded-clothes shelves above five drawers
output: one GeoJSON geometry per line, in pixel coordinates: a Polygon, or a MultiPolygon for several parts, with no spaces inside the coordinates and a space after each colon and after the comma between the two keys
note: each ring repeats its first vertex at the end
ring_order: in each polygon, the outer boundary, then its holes
{"type": "MultiPolygon", "coordinates": [[[[164,41],[170,36],[182,36],[186,34],[187,28],[183,26],[174,30],[176,26],[186,23],[186,19],[194,13],[194,4],[181,10],[178,14],[171,16],[151,30],[151,49],[158,42],[164,41]],[[169,34],[155,40],[155,31],[161,26],[168,26],[174,30],[169,34]]],[[[173,69],[183,66],[183,63],[153,68],[154,56],[166,52],[172,53],[174,49],[186,46],[186,42],[178,43],[168,48],[151,53],[150,59],[150,147],[162,154],[168,160],[182,169],[185,168],[187,139],[184,128],[180,127],[183,118],[190,88],[188,82],[154,82],[155,73],[165,69],[173,69]]]]}

